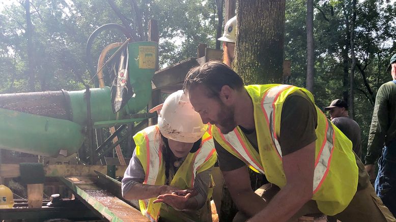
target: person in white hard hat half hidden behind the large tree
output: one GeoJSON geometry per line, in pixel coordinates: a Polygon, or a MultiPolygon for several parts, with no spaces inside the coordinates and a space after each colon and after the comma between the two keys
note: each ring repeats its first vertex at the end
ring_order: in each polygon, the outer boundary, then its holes
{"type": "Polygon", "coordinates": [[[234,59],[236,29],[237,16],[234,16],[225,23],[223,36],[217,39],[223,41],[223,63],[229,67],[234,59]]]}

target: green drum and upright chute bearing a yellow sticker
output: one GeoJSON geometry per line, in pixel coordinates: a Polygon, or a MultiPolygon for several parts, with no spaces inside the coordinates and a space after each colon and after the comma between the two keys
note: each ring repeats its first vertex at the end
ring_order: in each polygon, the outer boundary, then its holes
{"type": "MultiPolygon", "coordinates": [[[[117,113],[113,112],[108,86],[69,92],[2,94],[0,148],[43,156],[68,156],[77,152],[87,138],[90,141],[96,128],[152,117],[138,112],[151,99],[158,43],[133,42],[127,47],[128,80],[133,96],[117,113]]],[[[94,160],[97,159],[98,156],[94,160]]]]}

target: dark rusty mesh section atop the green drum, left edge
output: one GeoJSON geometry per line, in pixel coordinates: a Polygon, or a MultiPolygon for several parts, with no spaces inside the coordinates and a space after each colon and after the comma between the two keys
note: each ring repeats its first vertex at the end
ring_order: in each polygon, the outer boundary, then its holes
{"type": "Polygon", "coordinates": [[[0,94],[0,108],[70,120],[66,91],[0,94]]]}

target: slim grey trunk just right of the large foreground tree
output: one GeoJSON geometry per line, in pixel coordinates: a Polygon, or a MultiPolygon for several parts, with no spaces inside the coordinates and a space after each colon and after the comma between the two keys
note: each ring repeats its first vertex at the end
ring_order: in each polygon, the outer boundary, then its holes
{"type": "Polygon", "coordinates": [[[314,91],[314,0],[306,1],[306,89],[314,91]]]}

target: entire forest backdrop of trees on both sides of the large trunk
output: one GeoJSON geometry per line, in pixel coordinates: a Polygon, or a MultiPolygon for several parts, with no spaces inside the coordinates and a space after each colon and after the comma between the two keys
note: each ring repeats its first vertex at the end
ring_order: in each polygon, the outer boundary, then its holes
{"type": "MultiPolygon", "coordinates": [[[[0,2],[0,93],[82,90],[87,71],[86,43],[106,23],[126,26],[135,41],[148,39],[148,23],[159,27],[160,68],[196,57],[197,46],[220,48],[223,0],[3,0],[0,2]]],[[[353,1],[314,1],[314,89],[322,108],[348,99],[353,1]]],[[[306,2],[286,0],[286,84],[305,87],[307,70],[306,2]]],[[[354,20],[354,119],[360,125],[363,155],[375,95],[391,80],[385,69],[396,52],[396,3],[360,0],[354,20]]],[[[92,48],[93,61],[112,42],[125,37],[108,31],[92,48]]],[[[281,52],[280,52],[281,53],[281,52]]]]}

